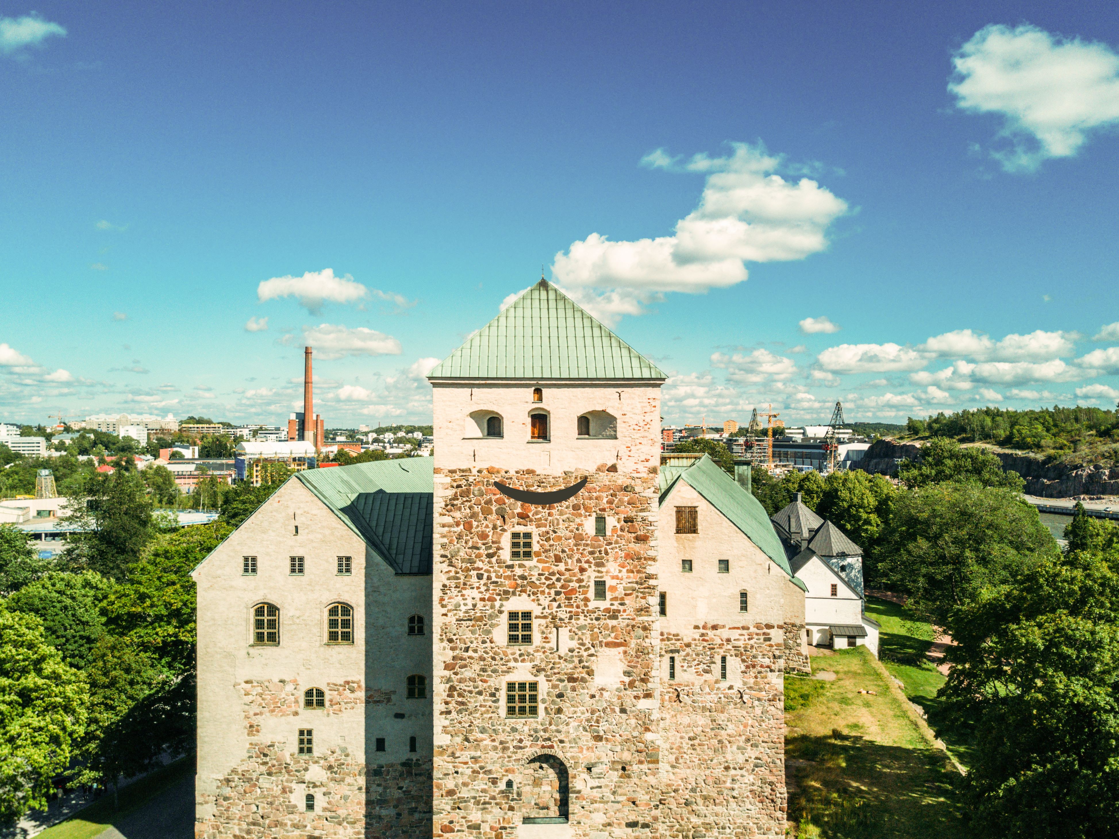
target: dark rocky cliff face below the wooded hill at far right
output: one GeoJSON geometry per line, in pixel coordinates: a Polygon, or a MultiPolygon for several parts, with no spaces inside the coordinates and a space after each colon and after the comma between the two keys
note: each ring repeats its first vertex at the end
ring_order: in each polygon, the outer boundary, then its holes
{"type": "MultiPolygon", "coordinates": [[[[1026,481],[1025,491],[1041,498],[1072,498],[1073,496],[1119,496],[1119,466],[1096,463],[1075,466],[1068,463],[1049,463],[1045,459],[1016,452],[995,452],[1003,461],[1003,469],[1017,472],[1026,481]]],[[[920,460],[920,443],[900,443],[896,440],[875,441],[858,464],[873,474],[894,475],[903,460],[920,460]]]]}

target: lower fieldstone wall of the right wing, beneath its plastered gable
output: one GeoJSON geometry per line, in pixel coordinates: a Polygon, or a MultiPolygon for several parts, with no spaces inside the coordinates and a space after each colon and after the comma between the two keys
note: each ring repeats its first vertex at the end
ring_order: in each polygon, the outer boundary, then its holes
{"type": "Polygon", "coordinates": [[[784,639],[797,638],[784,629],[699,625],[661,637],[676,660],[661,690],[662,839],[784,836],[782,673],[784,639]]]}

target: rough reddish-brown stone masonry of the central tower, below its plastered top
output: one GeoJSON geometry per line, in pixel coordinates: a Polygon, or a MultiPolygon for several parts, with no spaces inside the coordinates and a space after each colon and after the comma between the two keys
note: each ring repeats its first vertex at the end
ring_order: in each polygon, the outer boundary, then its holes
{"type": "Polygon", "coordinates": [[[566,836],[657,836],[656,505],[655,470],[436,468],[436,836],[515,836],[526,810],[538,812],[527,761],[539,754],[568,772],[566,836]],[[548,491],[582,478],[589,482],[579,494],[547,507],[517,503],[493,487],[548,491]],[[587,527],[595,515],[611,522],[604,537],[587,527]],[[532,562],[509,557],[518,527],[534,530],[532,562]],[[595,578],[608,581],[606,603],[592,602],[595,578]],[[505,644],[507,611],[529,605],[534,644],[505,644]],[[538,718],[506,718],[509,679],[539,682],[538,718]],[[521,795],[524,784],[530,789],[521,795]]]}

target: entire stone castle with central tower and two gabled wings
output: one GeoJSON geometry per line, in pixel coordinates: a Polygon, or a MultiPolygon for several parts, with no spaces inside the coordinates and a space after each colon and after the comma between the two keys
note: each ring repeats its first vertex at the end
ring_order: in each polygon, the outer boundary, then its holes
{"type": "Polygon", "coordinates": [[[542,280],[432,370],[433,459],[301,472],[207,557],[196,836],[783,836],[805,585],[661,463],[665,378],[542,280]]]}

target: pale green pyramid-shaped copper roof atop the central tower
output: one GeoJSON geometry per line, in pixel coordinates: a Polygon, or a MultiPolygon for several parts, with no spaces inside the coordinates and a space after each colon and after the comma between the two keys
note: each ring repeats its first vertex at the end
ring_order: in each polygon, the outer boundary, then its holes
{"type": "Polygon", "coordinates": [[[546,280],[517,298],[427,376],[534,380],[668,378],[546,280]]]}

